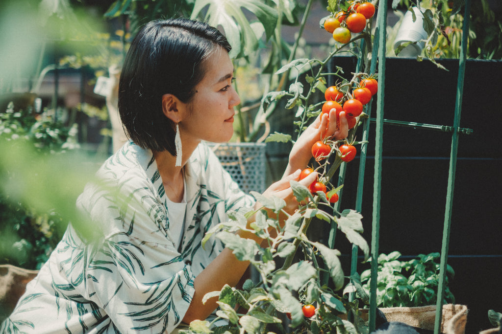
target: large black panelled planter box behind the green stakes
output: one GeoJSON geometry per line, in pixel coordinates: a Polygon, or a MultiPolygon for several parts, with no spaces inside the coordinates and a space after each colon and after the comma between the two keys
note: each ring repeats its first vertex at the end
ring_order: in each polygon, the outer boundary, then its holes
{"type": "MultiPolygon", "coordinates": [[[[429,61],[386,59],[384,118],[452,126],[458,60],[440,63],[448,71],[429,61]]],[[[353,58],[336,57],[333,64],[348,74],[355,70],[353,58]]],[[[450,288],[456,303],[469,308],[466,332],[492,327],[487,311],[502,311],[502,92],[496,83],[500,74],[502,61],[466,61],[460,127],[473,132],[459,136],[448,252],[448,263],[456,271],[450,288]]],[[[374,118],[375,101],[371,109],[374,118]]],[[[413,257],[440,252],[452,133],[390,124],[383,131],[380,253],[398,250],[413,257]]],[[[361,210],[368,242],[374,135],[371,124],[361,210]]],[[[347,165],[342,209],[355,206],[358,168],[358,158],[347,165]]],[[[341,233],[335,248],[350,254],[341,233]]]]}

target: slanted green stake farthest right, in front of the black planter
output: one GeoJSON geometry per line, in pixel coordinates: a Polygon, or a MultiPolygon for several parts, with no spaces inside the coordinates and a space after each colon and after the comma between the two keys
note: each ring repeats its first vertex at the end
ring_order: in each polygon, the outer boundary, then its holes
{"type": "Polygon", "coordinates": [[[434,333],[441,333],[443,317],[444,284],[446,281],[446,265],[448,247],[450,243],[451,211],[453,207],[453,186],[455,184],[455,170],[457,165],[458,126],[462,110],[462,93],[464,87],[465,59],[467,58],[467,39],[469,35],[470,0],[465,0],[464,24],[462,27],[462,48],[458,65],[457,96],[455,100],[455,117],[453,119],[453,135],[451,138],[450,167],[448,172],[448,188],[446,192],[446,208],[444,214],[443,240],[441,245],[441,262],[439,269],[438,297],[436,302],[436,318],[434,333]]]}

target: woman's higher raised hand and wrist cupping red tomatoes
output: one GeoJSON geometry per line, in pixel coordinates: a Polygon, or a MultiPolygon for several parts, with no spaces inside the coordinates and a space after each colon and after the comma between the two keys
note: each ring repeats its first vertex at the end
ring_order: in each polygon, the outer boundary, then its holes
{"type": "Polygon", "coordinates": [[[321,114],[315,121],[301,134],[291,149],[289,154],[289,164],[286,167],[284,176],[290,175],[298,169],[307,168],[307,164],[312,158],[312,146],[318,140],[325,137],[332,137],[334,140],[347,138],[348,123],[345,112],[341,111],[336,121],[336,111],[331,109],[329,117],[321,114]]]}

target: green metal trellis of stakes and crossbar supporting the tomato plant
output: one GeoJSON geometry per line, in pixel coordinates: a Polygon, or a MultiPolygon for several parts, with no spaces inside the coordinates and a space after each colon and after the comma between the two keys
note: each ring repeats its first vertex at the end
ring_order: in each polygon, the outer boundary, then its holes
{"type": "MultiPolygon", "coordinates": [[[[380,6],[377,14],[377,23],[375,29],[375,39],[372,48],[372,58],[370,63],[369,73],[374,73],[378,67],[379,75],[379,91],[377,94],[376,103],[376,118],[368,118],[363,122],[362,125],[362,144],[360,149],[360,160],[359,160],[359,174],[357,182],[357,192],[356,192],[356,203],[355,210],[361,211],[362,209],[362,189],[364,181],[364,169],[366,163],[366,152],[369,133],[370,122],[375,123],[375,161],[374,161],[374,183],[373,183],[373,208],[372,208],[372,223],[371,223],[371,258],[376,259],[379,256],[379,238],[380,238],[380,199],[381,199],[381,181],[382,181],[382,149],[383,149],[383,125],[391,124],[396,126],[406,126],[419,129],[436,130],[443,132],[452,132],[452,142],[451,142],[451,152],[450,152],[450,164],[448,172],[448,185],[447,185],[447,195],[446,195],[446,208],[444,216],[444,226],[443,226],[443,237],[441,246],[441,262],[440,262],[440,273],[439,273],[439,285],[437,292],[437,302],[436,302],[436,317],[434,324],[434,333],[438,334],[441,332],[441,322],[442,322],[442,308],[444,299],[444,284],[446,277],[446,267],[447,267],[447,257],[449,248],[449,238],[450,238],[450,228],[451,228],[451,211],[453,206],[453,188],[455,183],[455,170],[457,161],[457,148],[458,148],[458,135],[459,134],[470,134],[471,129],[459,128],[460,124],[460,113],[462,105],[462,95],[463,95],[463,84],[464,84],[464,73],[465,73],[465,60],[467,54],[467,38],[469,32],[469,16],[470,16],[470,0],[465,1],[464,10],[464,24],[462,31],[462,48],[459,58],[459,71],[457,79],[457,90],[456,90],[456,100],[455,100],[455,115],[453,120],[453,126],[442,126],[442,125],[432,125],[416,122],[402,122],[384,119],[384,92],[385,92],[385,46],[386,46],[386,33],[387,33],[387,1],[380,2],[380,6]],[[382,47],[380,47],[382,46],[382,47]]],[[[364,42],[362,42],[364,43],[364,42]]],[[[360,63],[357,64],[357,68],[360,63]]],[[[357,69],[356,69],[357,72],[357,69]]],[[[366,113],[370,115],[370,104],[367,107],[366,113]]],[[[345,177],[344,165],[340,167],[338,184],[343,183],[345,177]]],[[[340,193],[340,197],[341,197],[340,193]]],[[[338,202],[338,205],[341,201],[338,202]]],[[[330,246],[334,245],[334,230],[331,229],[331,234],[328,239],[330,246]]],[[[352,257],[351,257],[351,275],[357,272],[357,260],[358,260],[358,249],[357,246],[352,247],[352,257]]],[[[376,320],[376,287],[378,280],[378,261],[371,261],[371,280],[370,280],[370,296],[369,296],[369,314],[368,314],[368,326],[369,331],[375,329],[376,320]]],[[[353,293],[349,296],[353,299],[353,293]]]]}

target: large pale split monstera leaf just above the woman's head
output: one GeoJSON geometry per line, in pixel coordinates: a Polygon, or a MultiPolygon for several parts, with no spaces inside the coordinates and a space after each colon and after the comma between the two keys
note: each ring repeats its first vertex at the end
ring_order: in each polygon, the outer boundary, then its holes
{"type": "Polygon", "coordinates": [[[267,40],[274,34],[277,25],[277,10],[257,0],[196,0],[192,19],[201,15],[213,27],[221,27],[232,46],[230,56],[239,58],[258,49],[262,32],[267,40]],[[250,23],[242,9],[253,13],[258,22],[250,23]]]}

